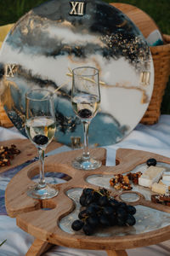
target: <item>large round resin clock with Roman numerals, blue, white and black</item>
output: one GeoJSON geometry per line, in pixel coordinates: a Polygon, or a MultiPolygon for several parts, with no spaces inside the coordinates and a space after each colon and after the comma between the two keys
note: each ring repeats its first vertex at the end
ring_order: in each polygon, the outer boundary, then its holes
{"type": "Polygon", "coordinates": [[[59,143],[83,143],[71,107],[72,69],[99,69],[101,102],[89,143],[117,143],[139,123],[150,103],[153,61],[143,35],[120,10],[99,0],[53,0],[32,9],[8,33],[0,52],[1,100],[25,131],[27,90],[54,91],[59,143]]]}

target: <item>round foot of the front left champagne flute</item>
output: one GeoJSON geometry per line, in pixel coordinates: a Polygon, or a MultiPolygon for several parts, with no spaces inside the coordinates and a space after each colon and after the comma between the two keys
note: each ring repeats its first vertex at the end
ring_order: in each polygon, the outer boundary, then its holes
{"type": "Polygon", "coordinates": [[[49,199],[58,195],[59,190],[54,189],[49,184],[46,184],[45,187],[41,187],[38,183],[30,187],[27,191],[27,195],[35,199],[49,199]]]}

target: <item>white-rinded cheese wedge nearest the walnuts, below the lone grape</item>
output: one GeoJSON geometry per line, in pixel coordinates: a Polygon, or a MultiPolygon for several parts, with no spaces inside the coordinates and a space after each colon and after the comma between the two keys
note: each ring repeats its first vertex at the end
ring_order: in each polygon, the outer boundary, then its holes
{"type": "Polygon", "coordinates": [[[142,175],[139,177],[139,185],[151,188],[153,183],[158,183],[162,177],[162,173],[166,169],[163,167],[150,166],[142,175]]]}

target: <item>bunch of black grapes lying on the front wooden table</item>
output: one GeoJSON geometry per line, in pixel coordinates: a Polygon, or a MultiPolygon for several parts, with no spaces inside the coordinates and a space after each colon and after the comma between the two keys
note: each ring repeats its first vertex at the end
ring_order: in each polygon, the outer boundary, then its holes
{"type": "Polygon", "coordinates": [[[116,201],[107,189],[83,189],[80,196],[81,211],[71,224],[72,230],[83,230],[88,236],[99,227],[133,226],[136,208],[116,201]]]}

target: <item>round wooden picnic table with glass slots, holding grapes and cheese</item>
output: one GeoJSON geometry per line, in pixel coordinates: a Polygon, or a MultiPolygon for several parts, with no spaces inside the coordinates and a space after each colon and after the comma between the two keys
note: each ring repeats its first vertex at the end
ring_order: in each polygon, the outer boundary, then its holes
{"type": "MultiPolygon", "coordinates": [[[[66,195],[66,192],[69,189],[83,189],[84,187],[99,188],[94,184],[88,183],[86,180],[87,177],[96,174],[114,175],[116,173],[130,172],[136,166],[145,163],[149,158],[156,158],[157,161],[170,164],[169,158],[159,154],[121,148],[116,152],[117,166],[101,166],[99,169],[93,171],[82,171],[74,169],[71,166],[71,160],[80,154],[82,154],[82,150],[65,152],[47,158],[46,172],[64,172],[71,177],[68,182],[55,185],[59,189],[59,194],[53,199],[40,201],[26,195],[27,188],[33,184],[31,177],[34,177],[38,172],[37,163],[33,163],[22,169],[12,178],[10,183],[8,183],[5,194],[8,215],[16,218],[17,225],[22,230],[25,230],[37,238],[31,250],[29,250],[30,253],[28,252],[26,255],[41,255],[41,253],[31,252],[34,252],[36,247],[39,252],[42,252],[42,248],[46,247],[48,243],[65,247],[106,250],[108,255],[112,256],[127,255],[124,251],[126,248],[148,246],[169,239],[170,224],[167,224],[167,226],[163,228],[132,236],[101,237],[80,234],[72,235],[61,230],[59,228],[61,218],[70,214],[75,208],[74,201],[66,195]],[[50,210],[46,211],[46,208],[50,210]]],[[[92,149],[91,154],[94,155],[95,158],[102,160],[103,163],[105,162],[104,148],[92,149]]],[[[111,195],[114,195],[114,193],[115,192],[111,195]]],[[[143,196],[141,196],[136,204],[170,213],[170,207],[162,207],[159,204],[145,201],[143,196]]]]}

